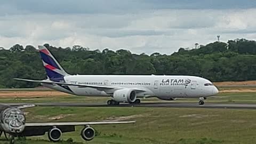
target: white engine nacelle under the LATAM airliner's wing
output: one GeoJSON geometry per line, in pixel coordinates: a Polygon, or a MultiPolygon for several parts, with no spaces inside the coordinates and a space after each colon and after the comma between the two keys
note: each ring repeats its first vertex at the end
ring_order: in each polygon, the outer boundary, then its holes
{"type": "Polygon", "coordinates": [[[117,90],[113,94],[113,100],[117,102],[133,103],[137,98],[136,92],[132,89],[117,90]]]}

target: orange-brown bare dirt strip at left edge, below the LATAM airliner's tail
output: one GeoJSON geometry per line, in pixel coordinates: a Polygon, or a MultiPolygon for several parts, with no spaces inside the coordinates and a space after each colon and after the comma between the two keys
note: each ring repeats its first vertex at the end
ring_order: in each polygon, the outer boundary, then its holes
{"type": "Polygon", "coordinates": [[[42,98],[69,95],[59,91],[1,91],[0,98],[42,98]]]}

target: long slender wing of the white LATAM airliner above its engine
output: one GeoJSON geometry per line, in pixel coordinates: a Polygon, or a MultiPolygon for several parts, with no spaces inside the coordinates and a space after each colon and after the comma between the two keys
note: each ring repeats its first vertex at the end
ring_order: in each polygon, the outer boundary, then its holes
{"type": "MultiPolygon", "coordinates": [[[[114,86],[101,86],[101,85],[89,85],[89,84],[75,84],[75,83],[65,83],[65,82],[53,82],[53,81],[47,81],[47,80],[33,80],[33,79],[23,79],[23,78],[14,78],[14,80],[17,81],[26,81],[26,82],[38,82],[38,83],[45,83],[45,84],[60,84],[60,85],[67,85],[67,86],[78,86],[78,87],[91,87],[98,90],[118,90],[118,89],[124,89],[123,87],[114,87],[114,86]]],[[[145,92],[146,90],[139,89],[139,88],[131,88],[137,92],[145,92]]]]}

